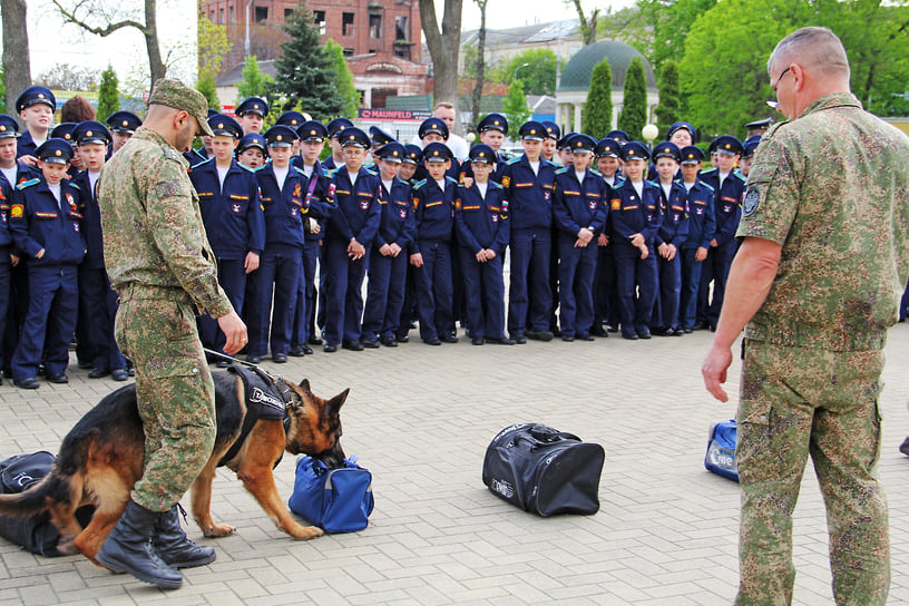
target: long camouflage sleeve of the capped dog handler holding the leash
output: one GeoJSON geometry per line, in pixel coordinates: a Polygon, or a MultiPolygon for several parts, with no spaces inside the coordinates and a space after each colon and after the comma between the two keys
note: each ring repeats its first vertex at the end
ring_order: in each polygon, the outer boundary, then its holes
{"type": "Polygon", "coordinates": [[[146,189],[148,228],[165,263],[199,309],[221,317],[233,310],[217,282],[193,185],[183,164],[163,157],[146,189]]]}

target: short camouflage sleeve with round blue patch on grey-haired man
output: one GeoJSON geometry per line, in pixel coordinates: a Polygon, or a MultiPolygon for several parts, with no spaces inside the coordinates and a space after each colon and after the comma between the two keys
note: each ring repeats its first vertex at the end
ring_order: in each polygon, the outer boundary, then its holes
{"type": "MultiPolygon", "coordinates": [[[[783,126],[783,125],[781,125],[783,126]]],[[[798,154],[784,133],[773,129],[755,154],[742,204],[736,237],[760,237],[784,244],[799,212],[798,154]]]]}

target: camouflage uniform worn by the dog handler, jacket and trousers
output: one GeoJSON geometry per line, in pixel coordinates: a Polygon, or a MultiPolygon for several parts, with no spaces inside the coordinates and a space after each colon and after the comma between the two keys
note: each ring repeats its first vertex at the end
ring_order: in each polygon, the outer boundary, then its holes
{"type": "Polygon", "coordinates": [[[131,497],[153,511],[183,497],[212,451],[215,390],[195,316],[232,310],[186,169],[176,148],[140,127],[99,184],[105,261],[120,296],[116,338],[136,366],[145,430],[131,497]]]}

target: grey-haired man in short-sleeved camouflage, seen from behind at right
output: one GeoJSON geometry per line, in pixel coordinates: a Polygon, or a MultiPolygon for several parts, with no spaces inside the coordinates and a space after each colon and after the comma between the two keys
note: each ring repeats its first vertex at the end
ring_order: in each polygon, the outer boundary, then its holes
{"type": "Polygon", "coordinates": [[[721,383],[745,328],[736,460],[736,604],[790,604],[792,511],[810,454],[827,506],[837,604],[884,604],[888,509],[877,477],[887,329],[909,275],[909,138],[862,110],[825,28],[784,38],[768,75],[788,121],[749,175],[713,345],[721,383]]]}

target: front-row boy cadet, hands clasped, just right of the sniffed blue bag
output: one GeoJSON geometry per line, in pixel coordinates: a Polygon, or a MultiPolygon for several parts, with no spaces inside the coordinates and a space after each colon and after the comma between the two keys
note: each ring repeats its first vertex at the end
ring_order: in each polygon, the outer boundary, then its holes
{"type": "Polygon", "coordinates": [[[408,250],[417,237],[413,219],[412,187],[398,178],[404,146],[392,141],[375,153],[382,182],[382,219],[369,255],[369,292],[363,312],[362,343],[366,348],[382,344],[394,348],[398,322],[404,304],[408,250]]]}

